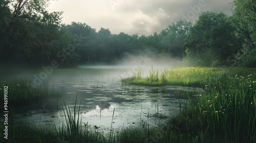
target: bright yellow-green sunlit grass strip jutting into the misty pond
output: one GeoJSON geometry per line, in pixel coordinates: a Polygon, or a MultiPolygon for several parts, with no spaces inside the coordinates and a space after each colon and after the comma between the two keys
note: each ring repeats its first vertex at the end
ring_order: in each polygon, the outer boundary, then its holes
{"type": "Polygon", "coordinates": [[[223,81],[226,77],[234,77],[236,75],[239,75],[239,77],[254,76],[255,73],[256,70],[254,68],[241,67],[183,67],[164,69],[163,71],[152,67],[147,77],[142,77],[143,71],[138,68],[132,76],[123,79],[122,82],[147,86],[181,85],[204,87],[205,85],[209,86],[223,81]]]}

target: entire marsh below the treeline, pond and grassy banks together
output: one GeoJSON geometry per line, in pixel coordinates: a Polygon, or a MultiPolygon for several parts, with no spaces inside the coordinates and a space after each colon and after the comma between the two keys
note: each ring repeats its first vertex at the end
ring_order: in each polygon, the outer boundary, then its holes
{"type": "Polygon", "coordinates": [[[54,69],[32,91],[27,83],[33,83],[40,69],[1,71],[1,94],[9,87],[8,141],[253,142],[255,71],[54,69]]]}

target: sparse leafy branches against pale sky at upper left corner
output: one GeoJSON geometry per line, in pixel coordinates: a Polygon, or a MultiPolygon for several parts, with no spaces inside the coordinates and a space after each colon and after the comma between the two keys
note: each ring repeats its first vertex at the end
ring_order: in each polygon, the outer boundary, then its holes
{"type": "Polygon", "coordinates": [[[5,40],[12,36],[12,25],[18,19],[27,19],[34,22],[41,22],[47,25],[60,25],[62,12],[49,13],[46,8],[50,0],[6,0],[1,1],[0,15],[4,17],[7,28],[1,33],[0,46],[4,46],[5,40]],[[4,13],[9,8],[9,13],[4,13]],[[9,34],[9,35],[8,35],[9,34]],[[5,37],[5,38],[2,38],[5,37]]]}

